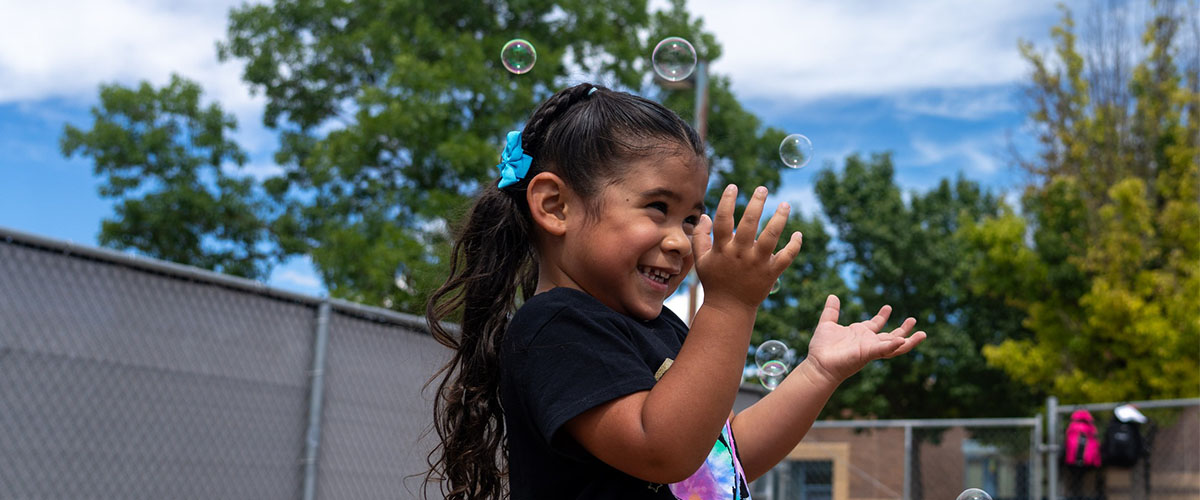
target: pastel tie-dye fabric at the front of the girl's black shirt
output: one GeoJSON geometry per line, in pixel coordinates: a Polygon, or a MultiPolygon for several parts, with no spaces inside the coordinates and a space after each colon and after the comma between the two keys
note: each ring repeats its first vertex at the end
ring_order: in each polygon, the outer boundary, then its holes
{"type": "Polygon", "coordinates": [[[725,421],[721,435],[700,470],[668,487],[671,494],[679,500],[750,500],[750,487],[746,484],[745,471],[742,470],[728,421],[725,421]]]}

